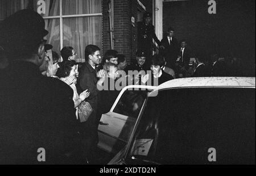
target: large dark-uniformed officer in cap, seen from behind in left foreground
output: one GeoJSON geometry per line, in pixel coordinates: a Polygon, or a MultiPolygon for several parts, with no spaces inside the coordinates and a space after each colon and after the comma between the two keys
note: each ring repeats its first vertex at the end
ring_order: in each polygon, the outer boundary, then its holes
{"type": "Polygon", "coordinates": [[[0,164],[68,164],[78,146],[72,89],[41,74],[44,25],[32,10],[1,23],[0,45],[10,64],[0,83],[0,164]]]}

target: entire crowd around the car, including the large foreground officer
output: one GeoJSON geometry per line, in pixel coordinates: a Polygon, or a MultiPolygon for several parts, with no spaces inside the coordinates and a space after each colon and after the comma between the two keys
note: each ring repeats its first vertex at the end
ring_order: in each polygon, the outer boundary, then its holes
{"type": "Polygon", "coordinates": [[[196,57],[192,68],[187,42],[182,40],[179,47],[173,28],[157,40],[148,18],[141,35],[145,41],[148,35],[154,37],[160,52],[151,56],[143,45],[131,64],[112,49],[101,57],[96,45],[86,46],[82,64],[76,62],[75,48],[64,47],[59,62],[44,40],[48,31],[39,14],[20,10],[5,19],[0,28],[0,164],[38,164],[38,148],[46,149],[46,164],[93,163],[101,115],[127,83],[158,86],[180,77],[228,76],[227,70],[240,74],[238,60],[221,60],[217,54],[211,57],[213,64],[196,57]],[[93,111],[81,123],[79,106],[84,101],[93,111]]]}

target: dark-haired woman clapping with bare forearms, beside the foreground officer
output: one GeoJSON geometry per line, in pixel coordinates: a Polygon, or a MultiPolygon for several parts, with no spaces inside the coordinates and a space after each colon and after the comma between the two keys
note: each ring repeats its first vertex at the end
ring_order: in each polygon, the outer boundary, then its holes
{"type": "Polygon", "coordinates": [[[78,106],[82,103],[82,101],[85,100],[85,98],[88,98],[90,93],[87,92],[87,90],[83,91],[80,95],[77,93],[76,90],[76,62],[71,60],[63,61],[60,64],[59,68],[59,77],[61,81],[64,81],[67,83],[68,80],[72,79],[74,80],[72,83],[69,84],[69,86],[73,89],[73,101],[76,108],[76,117],[78,119],[78,106]]]}

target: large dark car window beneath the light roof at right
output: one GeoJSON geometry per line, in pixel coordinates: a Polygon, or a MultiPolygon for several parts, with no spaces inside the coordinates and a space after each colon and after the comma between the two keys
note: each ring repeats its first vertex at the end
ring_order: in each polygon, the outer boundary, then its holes
{"type": "Polygon", "coordinates": [[[175,89],[149,97],[128,158],[160,164],[255,163],[255,89],[175,89]]]}

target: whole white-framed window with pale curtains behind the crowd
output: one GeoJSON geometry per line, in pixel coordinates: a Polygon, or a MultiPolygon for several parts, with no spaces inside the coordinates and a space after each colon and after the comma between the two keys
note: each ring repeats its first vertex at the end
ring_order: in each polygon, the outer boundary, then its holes
{"type": "MultiPolygon", "coordinates": [[[[38,1],[36,1],[38,2],[38,1]]],[[[71,46],[77,53],[77,61],[85,59],[86,45],[101,48],[102,2],[101,0],[45,0],[46,14],[42,14],[49,31],[47,43],[53,51],[71,46]]],[[[34,10],[39,5],[34,3],[34,10]]]]}

